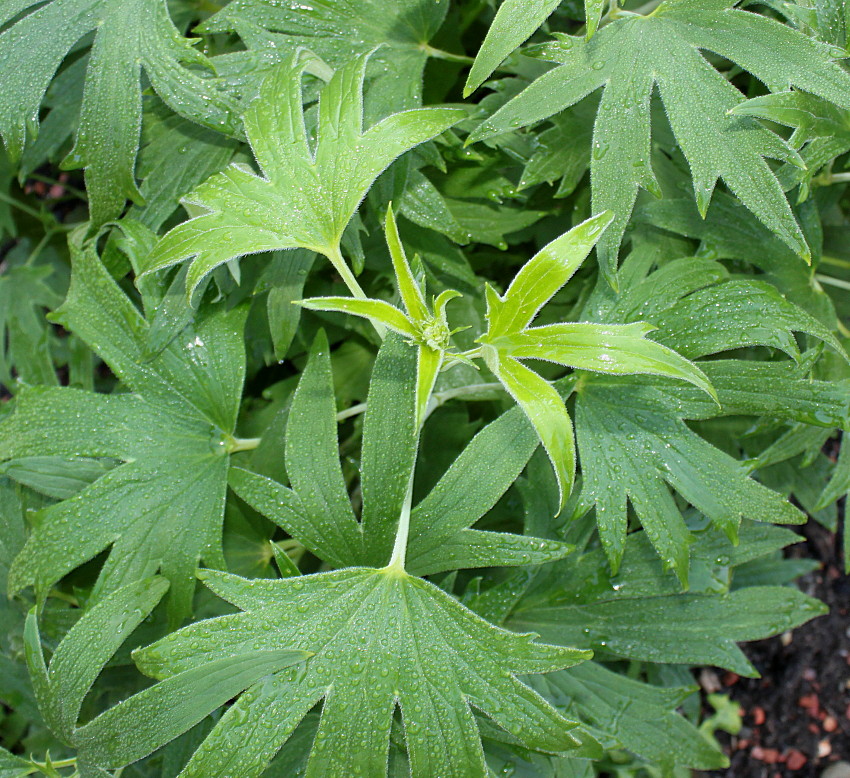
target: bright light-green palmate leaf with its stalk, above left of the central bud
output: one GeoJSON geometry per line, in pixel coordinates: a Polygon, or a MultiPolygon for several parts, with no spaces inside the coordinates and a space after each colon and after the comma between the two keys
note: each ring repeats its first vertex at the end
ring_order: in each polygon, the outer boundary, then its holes
{"type": "Polygon", "coordinates": [[[360,201],[396,157],[464,115],[458,109],[420,108],[393,114],[364,132],[368,57],[341,67],[322,90],[314,149],[301,99],[301,75],[310,57],[296,54],[272,71],[244,116],[263,175],[233,164],[183,198],[202,214],[160,240],[145,272],[194,257],[186,281],[191,295],[208,273],[230,259],[300,247],[324,254],[349,288],[359,290],[339,245],[360,201]]]}

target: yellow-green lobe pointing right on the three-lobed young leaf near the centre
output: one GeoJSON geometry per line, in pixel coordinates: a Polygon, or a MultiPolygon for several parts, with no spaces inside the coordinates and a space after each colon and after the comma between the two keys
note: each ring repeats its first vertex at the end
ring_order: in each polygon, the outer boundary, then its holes
{"type": "Polygon", "coordinates": [[[645,322],[547,324],[505,335],[492,345],[515,359],[542,359],[597,373],[648,373],[678,378],[716,398],[711,382],[693,362],[647,340],[646,335],[654,329],[645,322]]]}

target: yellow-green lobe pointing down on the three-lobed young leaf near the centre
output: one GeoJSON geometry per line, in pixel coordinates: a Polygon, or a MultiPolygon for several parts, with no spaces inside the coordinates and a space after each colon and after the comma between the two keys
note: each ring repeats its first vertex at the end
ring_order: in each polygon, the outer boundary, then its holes
{"type": "Polygon", "coordinates": [[[487,366],[517,401],[534,425],[558,480],[559,506],[573,488],[576,469],[573,423],[555,388],[533,370],[490,346],[482,351],[487,366]]]}

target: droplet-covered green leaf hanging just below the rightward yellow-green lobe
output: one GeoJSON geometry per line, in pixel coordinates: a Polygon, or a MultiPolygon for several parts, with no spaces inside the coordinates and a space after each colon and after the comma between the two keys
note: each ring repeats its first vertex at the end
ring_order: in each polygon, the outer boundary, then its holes
{"type": "Polygon", "coordinates": [[[749,468],[703,440],[683,420],[675,393],[634,379],[594,377],[576,399],[583,493],[596,504],[599,534],[612,568],[625,549],[627,500],[683,584],[690,532],[669,486],[735,537],[742,516],[800,524],[804,517],[749,477],[749,468]]]}

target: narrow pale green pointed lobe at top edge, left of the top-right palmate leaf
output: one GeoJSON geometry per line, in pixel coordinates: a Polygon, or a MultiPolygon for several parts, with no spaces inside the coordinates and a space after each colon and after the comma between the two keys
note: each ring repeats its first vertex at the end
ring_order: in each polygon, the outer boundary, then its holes
{"type": "Polygon", "coordinates": [[[504,0],[475,62],[469,71],[463,96],[469,97],[502,64],[502,61],[518,46],[525,43],[554,11],[560,0],[504,0]]]}

